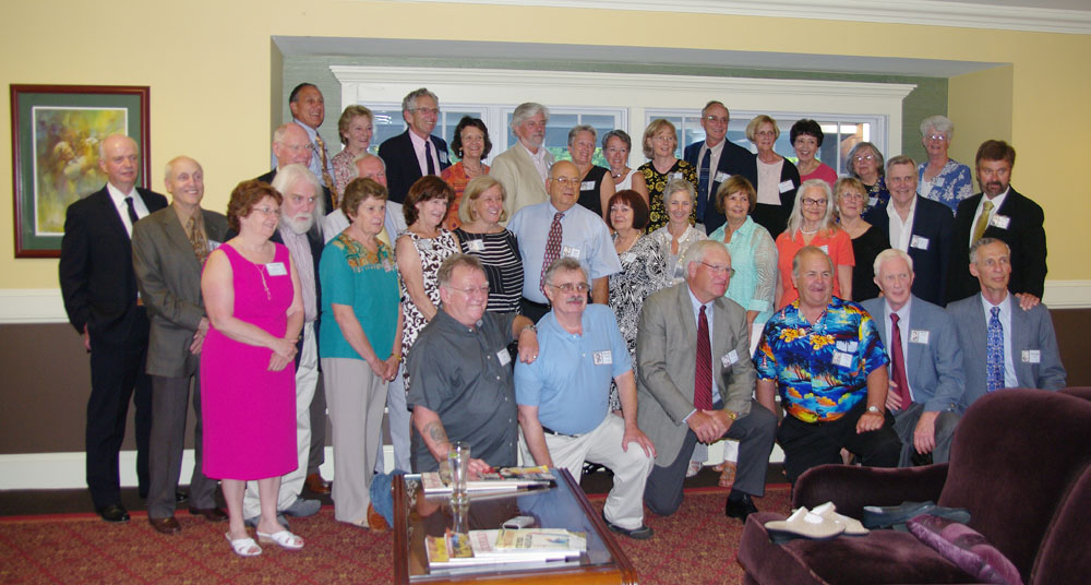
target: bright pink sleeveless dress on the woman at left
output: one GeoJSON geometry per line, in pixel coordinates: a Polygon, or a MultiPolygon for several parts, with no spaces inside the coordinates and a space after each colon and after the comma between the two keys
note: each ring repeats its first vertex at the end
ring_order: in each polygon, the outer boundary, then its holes
{"type": "MultiPolygon", "coordinates": [[[[291,268],[288,249],[274,246],[271,264],[253,264],[229,244],[219,249],[231,262],[233,315],[283,337],[291,305],[291,268]]],[[[298,466],[296,367],[289,363],[272,372],[272,349],[236,342],[216,327],[208,329],[201,349],[202,469],[206,476],[263,479],[298,466]]]]}

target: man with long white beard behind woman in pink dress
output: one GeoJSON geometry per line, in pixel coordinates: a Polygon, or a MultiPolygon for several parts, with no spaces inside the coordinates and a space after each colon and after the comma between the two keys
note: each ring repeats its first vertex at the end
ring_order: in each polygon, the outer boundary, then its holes
{"type": "MultiPolygon", "coordinates": [[[[319,381],[317,318],[321,290],[317,274],[322,256],[322,231],[315,217],[324,215],[322,183],[303,164],[292,163],[278,165],[272,184],[284,196],[284,202],[280,204],[280,227],[269,239],[288,248],[292,264],[299,273],[303,297],[303,332],[296,354],[296,444],[299,467],[280,478],[277,512],[278,516],[310,516],[322,508],[319,500],[300,497],[311,451],[311,399],[314,398],[319,381]]],[[[248,525],[256,526],[261,505],[257,500],[257,483],[254,481],[247,486],[242,514],[248,525]]],[[[280,521],[287,527],[286,520],[280,521]]]]}

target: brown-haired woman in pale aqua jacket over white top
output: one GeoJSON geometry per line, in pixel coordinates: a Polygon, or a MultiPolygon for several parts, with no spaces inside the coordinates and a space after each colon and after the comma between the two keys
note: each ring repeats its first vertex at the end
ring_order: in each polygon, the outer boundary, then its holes
{"type": "Polygon", "coordinates": [[[724,296],[746,309],[752,334],[755,323],[762,325],[772,315],[777,291],[777,244],[751,218],[756,203],[757,192],[745,177],[735,175],[723,181],[716,191],[716,208],[728,222],[708,236],[728,247],[735,272],[724,296]]]}

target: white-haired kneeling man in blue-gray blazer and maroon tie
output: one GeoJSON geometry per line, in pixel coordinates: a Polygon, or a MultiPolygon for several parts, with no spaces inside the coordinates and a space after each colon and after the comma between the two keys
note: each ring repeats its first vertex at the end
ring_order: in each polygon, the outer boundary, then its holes
{"type": "Polygon", "coordinates": [[[912,294],[913,259],[898,249],[875,259],[883,296],[863,301],[890,356],[886,406],[901,439],[899,467],[947,463],[962,407],[962,351],[955,321],[912,294]]]}

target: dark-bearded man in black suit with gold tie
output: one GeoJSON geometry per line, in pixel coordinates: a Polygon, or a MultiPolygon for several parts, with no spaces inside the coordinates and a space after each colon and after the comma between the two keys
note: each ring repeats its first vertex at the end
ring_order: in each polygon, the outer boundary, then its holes
{"type": "Polygon", "coordinates": [[[1047,270],[1045,215],[1038,203],[1011,188],[1011,167],[1015,164],[1016,150],[1004,141],[986,140],[978,148],[975,166],[982,192],[959,203],[955,216],[955,252],[947,287],[948,301],[964,299],[978,291],[978,283],[966,266],[970,263],[970,246],[981,237],[1003,240],[1011,249],[1008,290],[1012,295],[1042,298],[1047,270]],[[982,215],[985,215],[984,219],[982,215]],[[984,229],[981,236],[978,236],[979,223],[984,229]]]}

